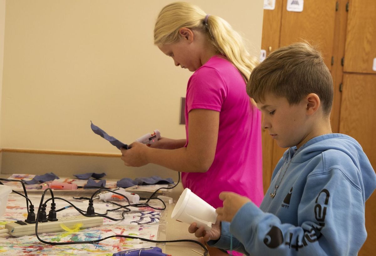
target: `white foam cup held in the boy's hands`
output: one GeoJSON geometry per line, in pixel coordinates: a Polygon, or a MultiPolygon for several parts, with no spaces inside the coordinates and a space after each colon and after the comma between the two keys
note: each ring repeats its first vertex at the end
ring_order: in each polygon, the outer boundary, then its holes
{"type": "Polygon", "coordinates": [[[184,223],[196,222],[197,227],[204,226],[206,231],[211,230],[211,225],[217,220],[215,208],[186,188],[177,200],[171,218],[184,223]]]}

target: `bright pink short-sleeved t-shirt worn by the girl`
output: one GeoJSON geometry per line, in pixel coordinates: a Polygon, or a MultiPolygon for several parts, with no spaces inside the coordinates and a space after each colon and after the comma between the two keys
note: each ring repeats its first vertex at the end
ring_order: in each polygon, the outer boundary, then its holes
{"type": "Polygon", "coordinates": [[[183,187],[215,208],[222,206],[222,191],[247,196],[259,206],[264,197],[261,113],[250,102],[238,69],[222,57],[212,57],[190,77],[185,102],[185,146],[191,110],[215,110],[220,119],[211,167],[205,173],[182,173],[183,187]]]}

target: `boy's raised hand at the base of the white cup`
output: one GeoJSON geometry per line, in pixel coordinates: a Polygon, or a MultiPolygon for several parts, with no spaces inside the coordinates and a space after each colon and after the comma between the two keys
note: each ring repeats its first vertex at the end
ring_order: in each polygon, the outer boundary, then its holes
{"type": "Polygon", "coordinates": [[[217,220],[231,222],[241,206],[250,202],[248,197],[241,196],[233,192],[222,192],[219,199],[223,201],[223,207],[218,207],[215,211],[218,213],[217,220]]]}

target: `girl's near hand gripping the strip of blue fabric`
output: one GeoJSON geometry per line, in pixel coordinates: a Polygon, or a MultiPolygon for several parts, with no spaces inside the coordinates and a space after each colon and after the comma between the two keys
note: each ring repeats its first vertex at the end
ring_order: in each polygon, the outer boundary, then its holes
{"type": "Polygon", "coordinates": [[[132,167],[139,167],[149,164],[147,160],[147,151],[149,147],[139,143],[133,142],[129,145],[129,149],[120,149],[121,150],[121,160],[124,161],[124,165],[132,166],[132,167]]]}

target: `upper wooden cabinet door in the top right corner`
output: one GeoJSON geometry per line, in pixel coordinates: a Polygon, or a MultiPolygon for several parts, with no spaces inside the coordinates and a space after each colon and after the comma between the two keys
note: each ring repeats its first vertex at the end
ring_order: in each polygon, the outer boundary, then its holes
{"type": "Polygon", "coordinates": [[[347,17],[345,72],[376,73],[376,1],[351,0],[347,17]]]}

